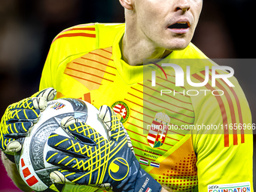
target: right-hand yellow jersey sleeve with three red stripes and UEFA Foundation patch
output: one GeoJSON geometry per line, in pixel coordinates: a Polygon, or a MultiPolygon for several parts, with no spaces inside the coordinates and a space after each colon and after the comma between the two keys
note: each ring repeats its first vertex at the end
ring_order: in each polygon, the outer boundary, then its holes
{"type": "MultiPolygon", "coordinates": [[[[194,81],[203,82],[204,72],[193,76],[194,81]]],[[[210,91],[191,98],[195,111],[192,136],[200,192],[253,191],[254,125],[241,87],[236,78],[231,78],[231,82],[235,87],[218,79],[216,87],[206,84],[204,89],[210,91]]]]}

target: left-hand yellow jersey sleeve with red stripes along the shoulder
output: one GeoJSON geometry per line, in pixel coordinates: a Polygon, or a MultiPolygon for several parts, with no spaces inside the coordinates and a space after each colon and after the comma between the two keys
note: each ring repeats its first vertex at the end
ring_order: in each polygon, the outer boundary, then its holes
{"type": "MultiPolygon", "coordinates": [[[[70,27],[56,35],[44,64],[39,87],[40,90],[47,87],[63,88],[59,87],[60,82],[72,81],[65,75],[66,65],[72,59],[76,59],[88,51],[96,49],[97,30],[97,24],[90,23],[70,27]]],[[[68,84],[66,85],[68,87],[68,84]]]]}

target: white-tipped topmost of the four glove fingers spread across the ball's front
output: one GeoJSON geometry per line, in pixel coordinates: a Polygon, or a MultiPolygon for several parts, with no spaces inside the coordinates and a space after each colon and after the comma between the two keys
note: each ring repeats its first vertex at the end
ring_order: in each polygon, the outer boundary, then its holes
{"type": "Polygon", "coordinates": [[[64,117],[60,122],[60,126],[62,126],[62,129],[65,130],[69,136],[87,145],[95,145],[93,140],[98,141],[102,137],[96,130],[87,125],[87,123],[75,119],[75,117],[72,116],[64,117]]]}

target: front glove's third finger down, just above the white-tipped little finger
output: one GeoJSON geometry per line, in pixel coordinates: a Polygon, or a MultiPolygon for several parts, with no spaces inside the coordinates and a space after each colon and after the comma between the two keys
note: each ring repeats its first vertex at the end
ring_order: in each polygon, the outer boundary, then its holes
{"type": "Polygon", "coordinates": [[[48,151],[46,161],[55,166],[63,166],[66,169],[78,169],[87,171],[87,157],[79,158],[59,151],[48,151]]]}

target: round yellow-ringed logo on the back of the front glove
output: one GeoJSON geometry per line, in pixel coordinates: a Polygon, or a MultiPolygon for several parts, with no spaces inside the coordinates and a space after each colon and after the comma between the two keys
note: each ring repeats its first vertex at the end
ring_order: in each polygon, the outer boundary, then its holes
{"type": "Polygon", "coordinates": [[[121,181],[126,178],[129,172],[129,164],[121,157],[117,157],[110,163],[108,174],[114,181],[121,181]]]}

